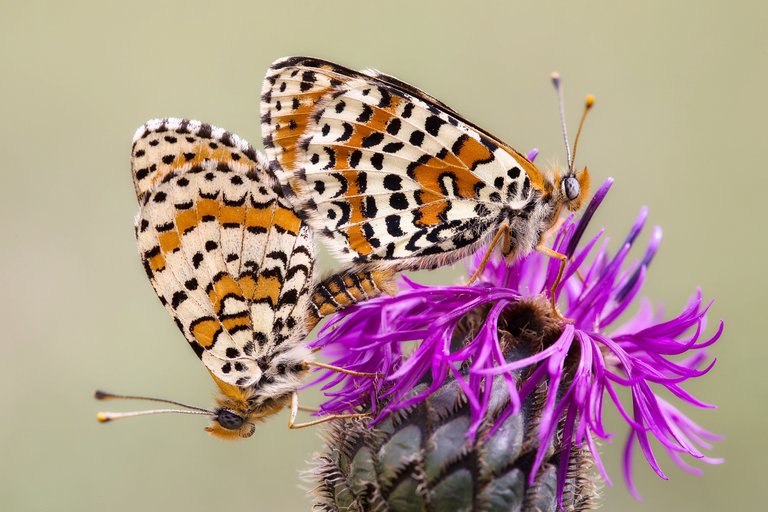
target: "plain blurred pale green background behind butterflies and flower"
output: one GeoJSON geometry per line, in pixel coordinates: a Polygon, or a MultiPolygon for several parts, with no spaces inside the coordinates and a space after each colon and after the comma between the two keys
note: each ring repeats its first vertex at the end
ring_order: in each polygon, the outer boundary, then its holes
{"type": "Polygon", "coordinates": [[[262,76],[291,54],[394,74],[543,163],[564,159],[549,73],[572,129],[595,94],[578,160],[616,179],[596,223],[617,241],[648,205],[665,239],[646,294],[675,312],[701,285],[727,323],[717,366],[688,387],[719,405],[691,414],[726,436],[726,463],[695,477],[662,455],[664,482],[637,457],[636,502],[613,422],[605,509],[761,509],[767,15],[759,1],[0,2],[0,509],[309,508],[298,471],[318,430],[289,431],[285,414],[240,443],[192,417],[103,426],[90,398],[210,404],[136,254],[131,136],[182,116],[260,146],[262,76]]]}

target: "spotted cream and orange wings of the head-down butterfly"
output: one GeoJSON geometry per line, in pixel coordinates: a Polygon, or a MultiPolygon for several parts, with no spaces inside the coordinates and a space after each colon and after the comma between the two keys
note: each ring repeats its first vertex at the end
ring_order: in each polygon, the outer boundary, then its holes
{"type": "Polygon", "coordinates": [[[257,383],[303,334],[314,253],[309,227],[245,141],[160,119],[134,137],[136,237],[147,275],[205,366],[257,383]]]}

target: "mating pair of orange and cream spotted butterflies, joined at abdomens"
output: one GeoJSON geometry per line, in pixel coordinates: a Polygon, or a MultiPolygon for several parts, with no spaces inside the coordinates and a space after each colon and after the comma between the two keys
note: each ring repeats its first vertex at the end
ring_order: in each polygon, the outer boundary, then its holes
{"type": "Polygon", "coordinates": [[[507,257],[527,254],[587,193],[588,172],[574,172],[570,156],[564,175],[544,174],[442,102],[374,71],[279,60],[261,114],[268,161],[236,135],[179,119],[148,122],[132,148],[145,270],[221,391],[211,411],[152,400],[208,415],[207,430],[222,438],[250,436],[289,404],[289,425],[299,426],[296,391],[312,365],[355,374],[311,362],[302,341],[320,318],[391,292],[398,270],[499,242],[507,257]],[[313,232],[349,262],[319,284],[313,232]]]}

